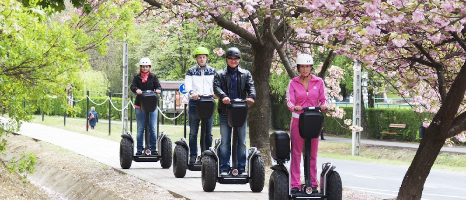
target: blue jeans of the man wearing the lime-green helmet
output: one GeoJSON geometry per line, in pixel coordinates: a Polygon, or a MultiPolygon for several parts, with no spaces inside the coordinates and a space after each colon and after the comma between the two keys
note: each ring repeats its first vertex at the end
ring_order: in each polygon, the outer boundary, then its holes
{"type": "MultiPolygon", "coordinates": [[[[198,130],[201,120],[196,116],[196,105],[189,104],[189,153],[190,157],[198,156],[198,130]]],[[[206,120],[206,150],[212,146],[213,116],[206,120]]],[[[202,134],[202,133],[201,133],[202,134]]]]}

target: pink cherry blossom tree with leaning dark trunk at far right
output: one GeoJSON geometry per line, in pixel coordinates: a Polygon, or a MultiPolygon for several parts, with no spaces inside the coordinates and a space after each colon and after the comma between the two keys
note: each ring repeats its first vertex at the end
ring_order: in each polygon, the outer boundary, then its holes
{"type": "Polygon", "coordinates": [[[362,61],[383,76],[393,92],[409,99],[413,110],[432,114],[397,196],[397,200],[420,200],[445,140],[465,141],[466,2],[315,0],[295,4],[311,11],[307,17],[321,35],[344,41],[326,43],[326,47],[362,61]]]}

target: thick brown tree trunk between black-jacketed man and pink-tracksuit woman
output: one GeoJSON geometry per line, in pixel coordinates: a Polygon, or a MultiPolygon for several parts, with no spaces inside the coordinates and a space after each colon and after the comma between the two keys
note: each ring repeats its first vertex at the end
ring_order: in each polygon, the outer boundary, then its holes
{"type": "Polygon", "coordinates": [[[265,165],[272,165],[270,146],[268,142],[269,113],[270,113],[270,66],[274,55],[274,48],[264,42],[264,46],[253,46],[254,65],[251,74],[256,87],[255,103],[249,111],[249,139],[250,145],[261,152],[265,165]]]}

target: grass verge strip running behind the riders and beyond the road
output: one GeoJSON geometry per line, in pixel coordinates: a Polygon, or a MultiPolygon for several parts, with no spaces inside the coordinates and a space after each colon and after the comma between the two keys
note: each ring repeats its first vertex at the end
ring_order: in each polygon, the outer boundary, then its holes
{"type": "MultiPolygon", "coordinates": [[[[101,122],[104,120],[108,122],[108,119],[100,119],[101,122]]],[[[109,124],[97,123],[95,130],[89,129],[89,131],[86,131],[86,121],[83,118],[67,118],[66,126],[63,126],[62,116],[45,116],[43,122],[41,116],[34,116],[32,122],[65,129],[68,131],[75,131],[99,138],[105,138],[115,142],[120,142],[121,140],[121,124],[111,124],[111,135],[109,136],[109,124]]],[[[161,125],[159,129],[160,131],[165,131],[168,134],[171,142],[175,142],[183,137],[183,125],[161,125]]],[[[136,124],[133,124],[133,131],[136,131],[136,124]]],[[[187,131],[189,131],[189,127],[187,131]]],[[[218,127],[213,127],[212,135],[214,138],[213,142],[215,142],[215,138],[220,138],[220,130],[218,127]]],[[[133,134],[133,138],[136,139],[136,134],[133,134]]],[[[249,136],[247,136],[247,138],[249,138],[249,136]]],[[[198,145],[200,145],[199,139],[198,145]]],[[[248,139],[246,141],[246,145],[247,148],[249,148],[248,139]]],[[[175,146],[173,146],[173,148],[174,147],[175,146]]],[[[319,157],[404,166],[411,165],[411,161],[416,154],[416,150],[417,149],[415,148],[363,145],[361,148],[361,156],[351,156],[351,144],[332,142],[319,143],[319,157]]],[[[440,152],[435,161],[435,164],[433,165],[433,168],[466,172],[466,154],[440,152]]]]}

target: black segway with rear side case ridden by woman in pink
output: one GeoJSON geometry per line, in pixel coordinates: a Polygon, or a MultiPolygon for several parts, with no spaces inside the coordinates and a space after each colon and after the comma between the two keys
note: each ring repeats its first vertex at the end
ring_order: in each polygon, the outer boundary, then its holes
{"type": "Polygon", "coordinates": [[[304,177],[306,183],[302,191],[292,193],[290,190],[290,173],[285,162],[290,159],[290,138],[285,131],[275,131],[270,135],[269,143],[272,158],[277,165],[272,166],[268,187],[269,200],[342,200],[342,180],[335,171],[335,166],[327,162],[322,164],[320,174],[320,193],[313,193],[310,177],[311,138],[318,138],[322,131],[323,115],[319,107],[303,108],[299,116],[299,134],[305,139],[304,177]]]}

